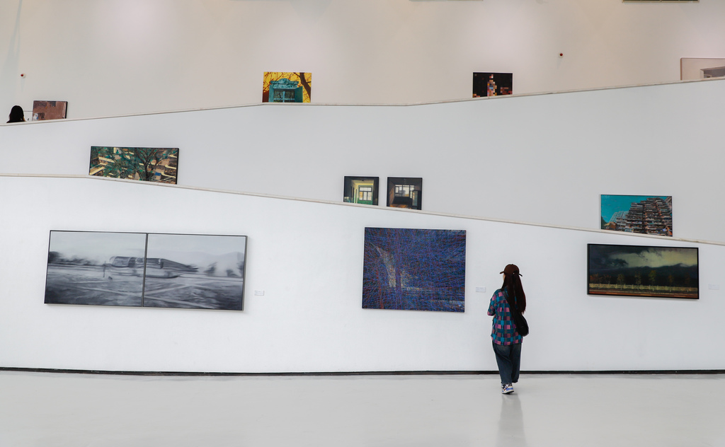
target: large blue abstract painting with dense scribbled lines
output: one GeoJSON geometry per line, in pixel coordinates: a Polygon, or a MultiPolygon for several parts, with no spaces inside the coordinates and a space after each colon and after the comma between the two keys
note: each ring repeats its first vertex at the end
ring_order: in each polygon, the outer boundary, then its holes
{"type": "Polygon", "coordinates": [[[363,309],[465,310],[465,230],[365,228],[363,309]]]}

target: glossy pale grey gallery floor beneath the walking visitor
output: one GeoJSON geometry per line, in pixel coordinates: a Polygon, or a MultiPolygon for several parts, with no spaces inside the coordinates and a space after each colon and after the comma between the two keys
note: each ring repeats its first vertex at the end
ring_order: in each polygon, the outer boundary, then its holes
{"type": "Polygon", "coordinates": [[[0,372],[0,447],[725,446],[725,375],[0,372]]]}

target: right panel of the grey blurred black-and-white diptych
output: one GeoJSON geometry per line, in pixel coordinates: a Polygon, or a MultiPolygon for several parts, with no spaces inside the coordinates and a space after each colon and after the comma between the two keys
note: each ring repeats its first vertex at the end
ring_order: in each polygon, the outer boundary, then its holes
{"type": "Polygon", "coordinates": [[[144,306],[242,309],[246,236],[149,234],[144,306]]]}

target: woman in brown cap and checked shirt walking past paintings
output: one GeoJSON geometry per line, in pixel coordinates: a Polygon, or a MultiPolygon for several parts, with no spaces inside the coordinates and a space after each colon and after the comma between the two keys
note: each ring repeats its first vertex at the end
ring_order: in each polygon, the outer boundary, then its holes
{"type": "Polygon", "coordinates": [[[518,382],[523,342],[523,337],[516,330],[511,308],[515,307],[523,314],[526,310],[526,295],[523,293],[518,267],[508,264],[501,273],[503,285],[491,297],[488,314],[494,317],[491,338],[501,376],[501,393],[510,394],[513,393],[513,384],[518,382]]]}

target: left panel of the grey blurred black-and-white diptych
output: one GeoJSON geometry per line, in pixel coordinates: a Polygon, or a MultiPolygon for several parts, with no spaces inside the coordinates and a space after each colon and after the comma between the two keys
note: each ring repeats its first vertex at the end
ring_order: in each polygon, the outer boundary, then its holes
{"type": "Polygon", "coordinates": [[[145,249],[146,233],[51,231],[46,304],[141,306],[145,249]],[[114,267],[119,258],[140,266],[114,267]]]}

